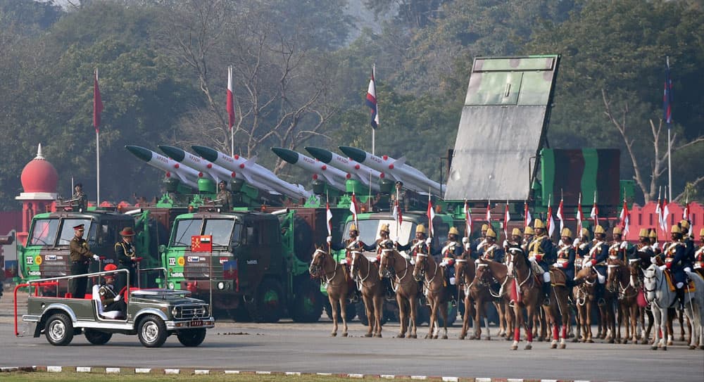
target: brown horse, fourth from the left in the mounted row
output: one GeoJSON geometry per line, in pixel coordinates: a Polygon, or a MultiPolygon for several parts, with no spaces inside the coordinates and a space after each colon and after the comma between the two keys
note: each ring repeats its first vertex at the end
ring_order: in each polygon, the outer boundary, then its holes
{"type": "Polygon", "coordinates": [[[413,278],[417,281],[423,280],[426,298],[430,305],[430,321],[428,333],[425,338],[438,338],[439,325],[437,324],[438,312],[443,320],[443,336],[447,339],[447,304],[450,300],[450,290],[445,285],[444,269],[435,261],[432,256],[418,253],[415,256],[415,267],[413,268],[413,278]],[[434,329],[436,329],[434,331],[434,329]]]}

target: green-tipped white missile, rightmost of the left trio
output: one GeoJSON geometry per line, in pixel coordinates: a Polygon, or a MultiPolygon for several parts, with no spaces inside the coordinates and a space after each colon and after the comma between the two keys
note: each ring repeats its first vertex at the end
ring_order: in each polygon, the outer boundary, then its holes
{"type": "Polygon", "coordinates": [[[276,176],[267,168],[256,163],[256,156],[246,159],[239,155],[226,155],[220,151],[214,150],[206,146],[191,146],[196,153],[199,153],[203,159],[208,160],[215,165],[225,167],[227,170],[241,174],[244,180],[249,184],[259,188],[255,184],[261,184],[273,189],[278,193],[282,193],[291,198],[309,198],[313,195],[300,184],[291,184],[285,182],[276,176]]]}

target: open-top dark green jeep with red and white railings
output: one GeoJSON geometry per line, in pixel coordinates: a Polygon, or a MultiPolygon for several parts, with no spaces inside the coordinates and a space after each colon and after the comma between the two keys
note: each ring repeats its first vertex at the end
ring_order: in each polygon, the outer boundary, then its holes
{"type": "MultiPolygon", "coordinates": [[[[165,269],[160,270],[165,272],[165,269]]],[[[90,343],[103,345],[113,333],[122,333],[137,334],[139,341],[147,348],[163,345],[172,334],[185,346],[198,346],[206,338],[206,329],[215,326],[208,303],[188,297],[189,291],[134,287],[129,291],[123,290],[120,295],[125,299],[126,312],[103,312],[99,284],[95,284],[92,293],[87,293],[85,298],[57,297],[58,293],[43,295],[47,289],[58,288],[66,279],[99,279],[116,272],[127,272],[127,269],[38,279],[18,285],[15,288],[15,301],[18,288],[27,287],[30,292],[27,314],[23,315],[23,321],[36,322],[34,337],[44,333],[52,345],[68,345],[73,336],[80,333],[84,333],[90,343]]],[[[15,335],[18,335],[16,321],[15,307],[15,335]]]]}

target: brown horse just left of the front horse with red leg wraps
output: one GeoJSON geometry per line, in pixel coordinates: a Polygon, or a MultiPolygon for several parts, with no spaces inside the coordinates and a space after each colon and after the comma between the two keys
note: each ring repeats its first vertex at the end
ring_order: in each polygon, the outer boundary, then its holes
{"type": "MultiPolygon", "coordinates": [[[[481,259],[477,264],[474,284],[477,284],[477,279],[479,279],[480,284],[486,285],[486,291],[489,292],[489,300],[493,300],[496,306],[500,329],[498,335],[502,336],[503,334],[510,340],[508,333],[513,332],[514,319],[513,307],[510,306],[510,285],[513,278],[508,274],[508,266],[501,262],[481,259]],[[499,285],[498,292],[492,290],[491,284],[499,285]]],[[[486,339],[490,339],[489,328],[487,328],[486,332],[486,339]]],[[[479,338],[477,337],[477,339],[479,338]]]]}

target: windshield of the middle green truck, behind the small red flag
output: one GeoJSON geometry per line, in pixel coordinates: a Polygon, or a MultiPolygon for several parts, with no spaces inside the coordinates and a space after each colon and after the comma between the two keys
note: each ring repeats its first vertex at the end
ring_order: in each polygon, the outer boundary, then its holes
{"type": "MultiPolygon", "coordinates": [[[[211,235],[213,246],[229,246],[235,226],[234,219],[181,219],[176,222],[171,246],[191,246],[191,236],[211,235]]],[[[237,235],[239,236],[239,234],[237,235]]]]}

